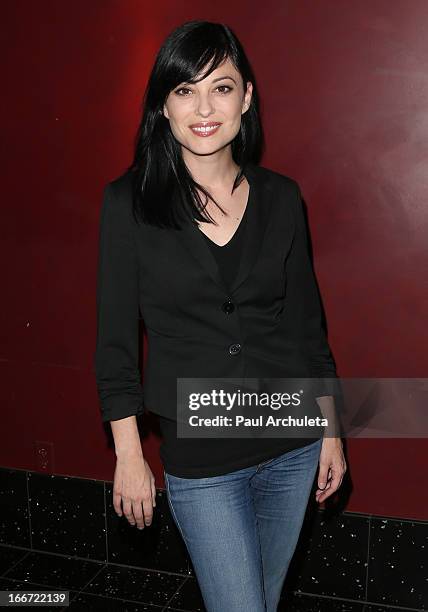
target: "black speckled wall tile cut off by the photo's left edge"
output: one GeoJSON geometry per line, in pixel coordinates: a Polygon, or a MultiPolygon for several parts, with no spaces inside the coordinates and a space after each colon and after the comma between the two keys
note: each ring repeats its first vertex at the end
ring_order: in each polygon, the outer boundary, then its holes
{"type": "Polygon", "coordinates": [[[27,472],[0,468],[0,542],[30,548],[27,472]]]}

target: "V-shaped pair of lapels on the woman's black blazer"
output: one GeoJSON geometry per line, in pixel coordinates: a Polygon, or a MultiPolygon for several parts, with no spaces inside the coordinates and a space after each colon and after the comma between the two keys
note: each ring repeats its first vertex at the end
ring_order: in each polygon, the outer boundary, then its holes
{"type": "MultiPolygon", "coordinates": [[[[271,209],[271,188],[256,165],[248,164],[244,175],[250,185],[247,227],[237,275],[231,287],[234,292],[249,275],[260,252],[271,209]]],[[[206,243],[205,236],[194,223],[186,224],[177,237],[190,255],[202,266],[226,294],[229,293],[217,261],[206,243]]]]}

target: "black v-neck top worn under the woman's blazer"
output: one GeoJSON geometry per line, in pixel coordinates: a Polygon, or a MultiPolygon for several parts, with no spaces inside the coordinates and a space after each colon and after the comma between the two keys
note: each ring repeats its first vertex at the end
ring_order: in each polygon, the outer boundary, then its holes
{"type": "MultiPolygon", "coordinates": [[[[224,246],[215,244],[201,232],[228,288],[238,272],[243,243],[247,237],[251,195],[250,191],[239,226],[224,246]]],[[[159,425],[163,438],[159,453],[165,472],[182,478],[220,476],[273,459],[315,441],[314,438],[178,438],[175,420],[159,416],[159,425]]]]}

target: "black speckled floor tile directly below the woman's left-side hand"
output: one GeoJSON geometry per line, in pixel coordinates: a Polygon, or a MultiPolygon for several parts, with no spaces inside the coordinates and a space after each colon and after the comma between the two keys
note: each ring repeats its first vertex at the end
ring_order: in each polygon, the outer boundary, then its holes
{"type": "Polygon", "coordinates": [[[185,580],[182,576],[108,565],[89,584],[85,593],[165,606],[185,580]]]}

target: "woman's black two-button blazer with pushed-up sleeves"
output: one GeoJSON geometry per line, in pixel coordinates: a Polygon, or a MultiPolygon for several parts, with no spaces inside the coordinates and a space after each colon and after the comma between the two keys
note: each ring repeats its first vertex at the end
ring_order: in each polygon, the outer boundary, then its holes
{"type": "Polygon", "coordinates": [[[245,176],[248,233],[230,292],[197,225],[137,225],[129,173],[106,185],[94,355],[103,421],[144,409],[175,418],[177,377],[336,377],[299,187],[253,164],[245,176]]]}

